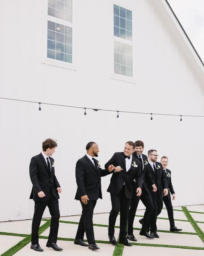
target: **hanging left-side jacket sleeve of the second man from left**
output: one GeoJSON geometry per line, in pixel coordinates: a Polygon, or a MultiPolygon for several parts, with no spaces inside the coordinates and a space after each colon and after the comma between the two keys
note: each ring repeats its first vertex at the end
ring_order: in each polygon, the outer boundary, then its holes
{"type": "Polygon", "coordinates": [[[76,163],[75,176],[80,196],[87,195],[84,185],[85,170],[80,160],[76,163]]]}

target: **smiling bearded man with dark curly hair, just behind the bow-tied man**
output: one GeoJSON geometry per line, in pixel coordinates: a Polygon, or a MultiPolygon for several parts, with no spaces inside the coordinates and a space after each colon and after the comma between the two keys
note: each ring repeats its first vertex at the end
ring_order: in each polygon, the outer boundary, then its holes
{"type": "Polygon", "coordinates": [[[136,209],[139,204],[139,199],[141,199],[142,203],[145,205],[146,210],[143,218],[142,229],[140,230],[139,234],[141,236],[145,236],[147,238],[155,238],[149,234],[149,224],[151,219],[151,214],[154,210],[154,205],[151,199],[151,195],[147,186],[146,181],[151,184],[151,189],[153,192],[157,191],[157,187],[155,186],[155,182],[151,177],[150,170],[148,169],[148,158],[144,154],[142,154],[144,149],[143,141],[136,141],[135,142],[135,152],[133,152],[133,157],[138,159],[141,163],[141,170],[142,170],[142,195],[136,196],[136,182],[133,181],[133,194],[130,203],[130,210],[128,214],[128,229],[127,229],[127,238],[131,241],[137,241],[135,236],[133,235],[133,222],[135,219],[136,209]]]}

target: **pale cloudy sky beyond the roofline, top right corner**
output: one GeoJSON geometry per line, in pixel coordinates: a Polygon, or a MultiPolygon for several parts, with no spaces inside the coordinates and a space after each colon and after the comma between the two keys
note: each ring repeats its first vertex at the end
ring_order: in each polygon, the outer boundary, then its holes
{"type": "Polygon", "coordinates": [[[204,0],[168,0],[204,62],[204,0]]]}

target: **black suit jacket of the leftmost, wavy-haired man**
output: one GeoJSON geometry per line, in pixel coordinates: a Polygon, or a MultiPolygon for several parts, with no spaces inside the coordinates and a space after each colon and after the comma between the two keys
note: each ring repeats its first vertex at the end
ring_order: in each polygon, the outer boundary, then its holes
{"type": "Polygon", "coordinates": [[[49,160],[51,162],[51,172],[48,170],[46,160],[41,153],[31,158],[29,171],[33,188],[31,190],[30,199],[33,199],[34,201],[46,202],[49,199],[48,195],[50,189],[54,197],[59,199],[59,194],[56,188],[59,188],[60,185],[55,176],[55,168],[52,166],[54,159],[49,157],[49,160]],[[40,191],[43,191],[46,196],[40,198],[37,195],[40,191]]]}

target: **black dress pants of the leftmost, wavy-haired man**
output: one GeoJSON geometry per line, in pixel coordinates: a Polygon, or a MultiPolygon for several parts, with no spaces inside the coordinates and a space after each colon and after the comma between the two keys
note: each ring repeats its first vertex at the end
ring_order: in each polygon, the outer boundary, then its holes
{"type": "Polygon", "coordinates": [[[38,202],[35,201],[34,207],[34,215],[32,221],[32,231],[31,231],[31,244],[38,243],[38,230],[40,227],[40,222],[43,216],[43,212],[46,206],[49,208],[49,213],[51,215],[51,222],[50,222],[50,231],[48,241],[50,243],[57,242],[57,234],[59,229],[59,202],[58,199],[55,198],[50,190],[48,195],[48,201],[46,202],[38,202]]]}

